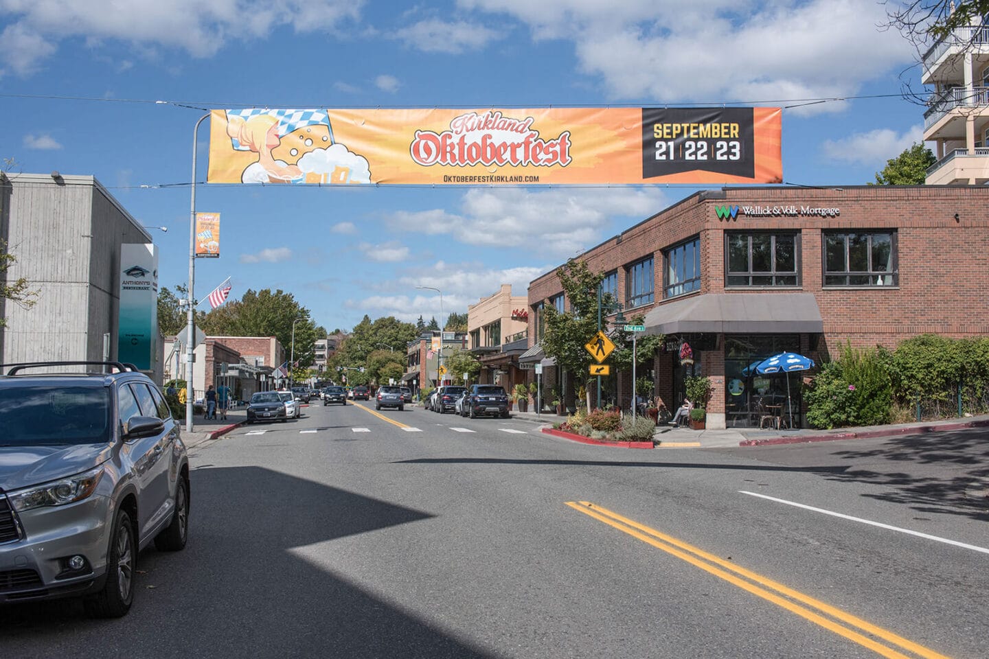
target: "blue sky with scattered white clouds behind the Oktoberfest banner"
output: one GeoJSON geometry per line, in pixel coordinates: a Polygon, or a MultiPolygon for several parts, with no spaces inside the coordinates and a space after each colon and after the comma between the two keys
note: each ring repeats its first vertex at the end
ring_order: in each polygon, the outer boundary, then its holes
{"type": "MultiPolygon", "coordinates": [[[[0,0],[0,156],[93,175],[188,279],[195,108],[662,107],[783,112],[783,179],[873,180],[921,138],[917,54],[854,0],[0,0]],[[866,98],[871,97],[871,98],[866,98]],[[812,103],[817,99],[845,101],[812,103]],[[166,101],[167,103],[156,103],[166,101]],[[185,108],[182,106],[193,106],[185,108]]],[[[205,181],[209,123],[200,130],[205,181]]],[[[328,330],[414,321],[527,283],[696,188],[197,187],[225,277],[291,291],[328,330]]],[[[14,246],[16,249],[16,246],[14,246]]],[[[208,307],[201,307],[208,308],[208,307]]]]}

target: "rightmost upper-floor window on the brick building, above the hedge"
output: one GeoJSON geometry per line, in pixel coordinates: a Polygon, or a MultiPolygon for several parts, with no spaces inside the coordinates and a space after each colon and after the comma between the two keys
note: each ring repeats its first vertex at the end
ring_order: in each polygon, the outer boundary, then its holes
{"type": "Polygon", "coordinates": [[[824,286],[897,286],[896,231],[826,233],[824,286]]]}

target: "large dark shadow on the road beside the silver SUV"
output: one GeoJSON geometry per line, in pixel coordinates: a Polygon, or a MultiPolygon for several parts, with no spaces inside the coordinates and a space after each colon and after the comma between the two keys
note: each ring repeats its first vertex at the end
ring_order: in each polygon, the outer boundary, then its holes
{"type": "MultiPolygon", "coordinates": [[[[77,601],[0,609],[3,656],[422,657],[486,654],[293,549],[380,531],[427,513],[259,467],[192,473],[184,551],[139,556],[135,606],[119,620],[77,601]]],[[[152,545],[153,546],[153,545],[152,545]]]]}

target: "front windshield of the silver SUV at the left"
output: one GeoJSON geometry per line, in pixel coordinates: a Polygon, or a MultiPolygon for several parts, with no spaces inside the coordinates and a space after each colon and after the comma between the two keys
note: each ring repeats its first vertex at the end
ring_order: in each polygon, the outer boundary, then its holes
{"type": "Polygon", "coordinates": [[[102,386],[0,387],[0,446],[96,444],[111,439],[110,389],[102,386]]]}

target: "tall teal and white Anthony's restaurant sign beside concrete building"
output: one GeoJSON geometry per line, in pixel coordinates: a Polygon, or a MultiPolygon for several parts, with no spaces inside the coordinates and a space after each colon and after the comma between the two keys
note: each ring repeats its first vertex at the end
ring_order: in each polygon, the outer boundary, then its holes
{"type": "Polygon", "coordinates": [[[158,248],[121,245],[117,359],[153,371],[158,343],[158,248]]]}

